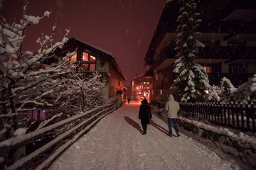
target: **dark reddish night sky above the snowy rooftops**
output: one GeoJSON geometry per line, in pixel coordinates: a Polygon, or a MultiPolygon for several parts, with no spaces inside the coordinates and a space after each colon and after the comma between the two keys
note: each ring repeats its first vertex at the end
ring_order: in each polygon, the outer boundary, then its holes
{"type": "MultiPolygon", "coordinates": [[[[57,21],[54,40],[76,37],[112,52],[122,72],[125,84],[136,74],[144,74],[144,57],[166,0],[31,0],[27,15],[43,16],[52,11],[37,26],[28,28],[23,50],[36,51],[36,40],[43,33],[50,35],[57,21]]],[[[24,0],[5,0],[1,16],[7,22],[21,19],[24,0]]]]}

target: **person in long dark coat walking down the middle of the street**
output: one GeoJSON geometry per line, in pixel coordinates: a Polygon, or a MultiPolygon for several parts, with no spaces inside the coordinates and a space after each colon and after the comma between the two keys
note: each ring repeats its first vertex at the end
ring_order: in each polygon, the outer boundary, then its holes
{"type": "Polygon", "coordinates": [[[147,102],[146,98],[142,101],[142,105],[139,107],[139,119],[142,123],[143,128],[143,135],[146,134],[147,125],[149,125],[149,120],[151,120],[151,110],[149,103],[147,102]]]}

